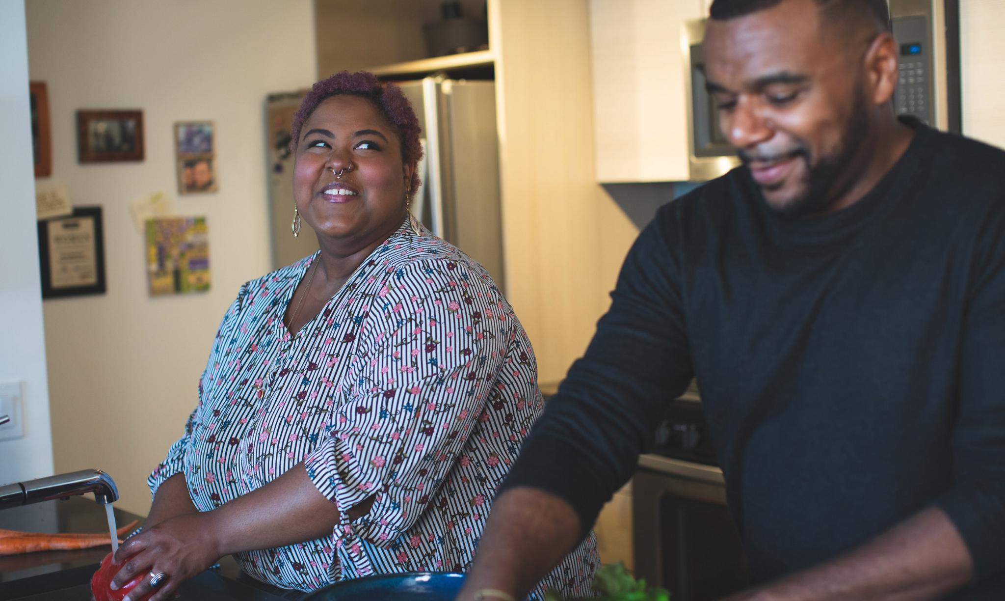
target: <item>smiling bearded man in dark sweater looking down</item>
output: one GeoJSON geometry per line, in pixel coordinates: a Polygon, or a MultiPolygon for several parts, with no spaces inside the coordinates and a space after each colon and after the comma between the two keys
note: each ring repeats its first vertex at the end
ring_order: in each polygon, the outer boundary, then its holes
{"type": "Polygon", "coordinates": [[[883,0],[716,0],[745,165],[660,209],[459,599],[530,590],[696,376],[759,600],[1005,599],[1005,153],[897,120],[883,0]]]}

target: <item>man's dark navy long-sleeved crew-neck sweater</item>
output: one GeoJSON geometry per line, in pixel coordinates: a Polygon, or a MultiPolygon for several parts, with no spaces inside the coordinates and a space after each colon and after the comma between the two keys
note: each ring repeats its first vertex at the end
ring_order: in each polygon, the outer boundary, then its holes
{"type": "Polygon", "coordinates": [[[834,214],[773,213],[746,168],[662,207],[504,487],[588,528],[693,375],[759,579],[936,506],[959,598],[1005,599],[1005,153],[911,125],[834,214]]]}

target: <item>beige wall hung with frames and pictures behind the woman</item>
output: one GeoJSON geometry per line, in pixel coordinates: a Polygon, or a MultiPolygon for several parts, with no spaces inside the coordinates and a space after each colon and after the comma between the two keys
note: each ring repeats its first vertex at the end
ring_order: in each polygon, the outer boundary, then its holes
{"type": "Polygon", "coordinates": [[[48,83],[53,181],[104,207],[108,293],[44,303],[57,471],[97,467],[145,514],[147,473],[181,433],[223,312],[269,268],[263,106],[317,72],[310,0],[27,3],[48,83]],[[76,162],[78,109],[142,109],[146,161],[76,162]],[[172,123],[216,124],[219,192],[177,197],[172,123]],[[152,297],[129,203],[155,191],[207,216],[212,289],[152,297]]]}

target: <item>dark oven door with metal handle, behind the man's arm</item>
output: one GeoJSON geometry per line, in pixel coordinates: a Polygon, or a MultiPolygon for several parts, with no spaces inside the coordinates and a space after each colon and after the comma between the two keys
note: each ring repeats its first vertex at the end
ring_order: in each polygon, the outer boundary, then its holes
{"type": "Polygon", "coordinates": [[[635,577],[673,601],[746,588],[750,570],[718,467],[642,455],[632,480],[635,577]]]}

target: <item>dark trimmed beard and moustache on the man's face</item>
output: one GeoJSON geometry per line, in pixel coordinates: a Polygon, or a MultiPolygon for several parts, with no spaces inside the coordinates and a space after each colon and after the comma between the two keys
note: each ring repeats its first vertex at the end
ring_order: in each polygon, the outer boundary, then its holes
{"type": "MultiPolygon", "coordinates": [[[[804,141],[799,141],[795,150],[783,156],[772,158],[772,160],[797,158],[805,161],[806,165],[809,166],[809,171],[803,179],[806,192],[793,198],[785,206],[772,207],[772,209],[776,213],[790,217],[808,217],[826,212],[830,205],[854,183],[853,180],[849,179],[840,188],[837,186],[841,176],[847,175],[846,170],[868,138],[868,105],[865,102],[864,89],[858,86],[852,99],[851,114],[848,116],[841,140],[834,152],[820,157],[820,160],[814,165],[809,146],[804,141]]],[[[744,163],[754,159],[742,150],[738,151],[738,154],[744,163]]],[[[760,157],[758,159],[764,160],[760,157]]],[[[765,190],[771,189],[765,188],[765,190]]]]}

